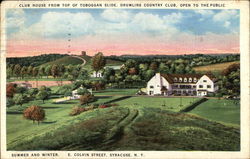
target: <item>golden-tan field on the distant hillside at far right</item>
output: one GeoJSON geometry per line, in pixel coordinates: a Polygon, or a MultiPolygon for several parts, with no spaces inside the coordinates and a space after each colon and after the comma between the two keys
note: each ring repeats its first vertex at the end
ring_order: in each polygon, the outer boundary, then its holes
{"type": "Polygon", "coordinates": [[[212,64],[212,65],[206,65],[206,66],[198,66],[194,67],[194,70],[196,72],[221,72],[224,69],[226,69],[228,66],[234,64],[234,63],[240,63],[239,61],[233,61],[233,62],[224,62],[219,64],[212,64]]]}

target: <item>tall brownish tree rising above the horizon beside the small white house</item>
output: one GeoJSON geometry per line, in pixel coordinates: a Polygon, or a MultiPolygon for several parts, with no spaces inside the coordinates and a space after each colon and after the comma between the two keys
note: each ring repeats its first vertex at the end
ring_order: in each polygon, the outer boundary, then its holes
{"type": "Polygon", "coordinates": [[[101,70],[106,64],[106,60],[101,52],[95,54],[92,58],[92,69],[96,71],[96,73],[101,70]]]}

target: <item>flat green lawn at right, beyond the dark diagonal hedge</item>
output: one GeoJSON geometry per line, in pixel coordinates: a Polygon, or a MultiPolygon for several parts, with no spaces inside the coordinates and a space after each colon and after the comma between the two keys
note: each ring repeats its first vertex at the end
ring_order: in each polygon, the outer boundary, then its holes
{"type": "Polygon", "coordinates": [[[189,113],[210,120],[240,125],[240,105],[235,104],[233,100],[209,99],[189,113]]]}

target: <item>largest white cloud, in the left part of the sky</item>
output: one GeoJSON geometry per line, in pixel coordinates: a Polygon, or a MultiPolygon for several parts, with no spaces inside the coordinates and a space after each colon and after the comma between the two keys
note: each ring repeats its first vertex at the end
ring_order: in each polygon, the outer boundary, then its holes
{"type": "Polygon", "coordinates": [[[67,37],[91,34],[95,20],[89,13],[47,12],[41,20],[16,35],[30,37],[67,37]]]}

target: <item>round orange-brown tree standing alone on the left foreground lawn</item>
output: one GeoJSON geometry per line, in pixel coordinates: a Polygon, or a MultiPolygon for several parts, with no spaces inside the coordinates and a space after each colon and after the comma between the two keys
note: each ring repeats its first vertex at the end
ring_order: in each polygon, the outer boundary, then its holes
{"type": "Polygon", "coordinates": [[[33,105],[23,111],[23,116],[28,120],[33,120],[33,123],[37,121],[39,124],[40,121],[45,119],[45,111],[42,107],[33,105]]]}

